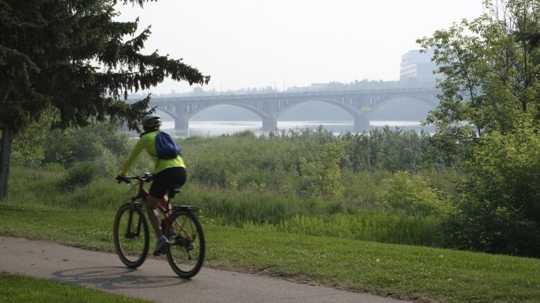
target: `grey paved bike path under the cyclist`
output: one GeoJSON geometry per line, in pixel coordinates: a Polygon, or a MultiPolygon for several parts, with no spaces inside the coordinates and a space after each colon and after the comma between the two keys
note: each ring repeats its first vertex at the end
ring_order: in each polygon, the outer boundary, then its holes
{"type": "Polygon", "coordinates": [[[112,253],[14,237],[0,237],[0,271],[167,303],[403,302],[204,267],[191,280],[183,280],[165,260],[146,260],[140,268],[132,270],[112,253]]]}

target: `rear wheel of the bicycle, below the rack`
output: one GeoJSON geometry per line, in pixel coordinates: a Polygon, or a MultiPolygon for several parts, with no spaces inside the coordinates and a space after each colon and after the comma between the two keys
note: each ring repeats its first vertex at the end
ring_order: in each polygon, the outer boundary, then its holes
{"type": "Polygon", "coordinates": [[[197,215],[188,209],[174,211],[163,234],[169,237],[166,255],[174,273],[184,278],[197,275],[205,253],[204,233],[197,215]]]}

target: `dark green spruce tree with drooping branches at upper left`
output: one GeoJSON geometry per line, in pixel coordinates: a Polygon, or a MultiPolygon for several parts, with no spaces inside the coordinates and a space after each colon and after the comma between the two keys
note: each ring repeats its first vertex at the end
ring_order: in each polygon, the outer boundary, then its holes
{"type": "Polygon", "coordinates": [[[144,55],[150,28],[137,34],[138,20],[114,21],[118,2],[0,0],[0,199],[8,194],[13,137],[44,110],[53,110],[55,128],[105,119],[136,128],[150,96],[129,105],[128,92],[165,77],[208,84],[210,77],[181,59],[144,55]]]}

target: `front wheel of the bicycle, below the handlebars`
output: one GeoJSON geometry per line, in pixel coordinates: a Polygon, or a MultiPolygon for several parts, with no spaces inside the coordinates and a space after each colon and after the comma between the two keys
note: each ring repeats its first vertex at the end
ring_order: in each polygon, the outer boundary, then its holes
{"type": "Polygon", "coordinates": [[[138,204],[127,203],[118,208],[114,218],[114,248],[127,267],[141,266],[148,255],[150,232],[138,204]]]}

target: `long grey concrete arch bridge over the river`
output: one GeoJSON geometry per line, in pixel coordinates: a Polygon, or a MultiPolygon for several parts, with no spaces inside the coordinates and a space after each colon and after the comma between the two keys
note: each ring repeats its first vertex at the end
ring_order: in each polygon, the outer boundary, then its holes
{"type": "Polygon", "coordinates": [[[339,90],[315,92],[276,92],[251,95],[212,95],[201,97],[152,98],[150,106],[174,119],[174,130],[188,130],[190,117],[217,105],[240,106],[262,119],[263,130],[274,130],[278,118],[293,106],[308,101],[333,104],[352,116],[354,132],[370,128],[370,113],[398,98],[411,98],[433,108],[438,105],[435,88],[396,88],[379,90],[339,90]]]}

